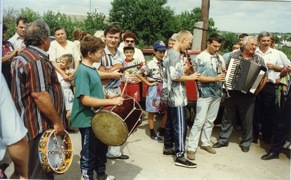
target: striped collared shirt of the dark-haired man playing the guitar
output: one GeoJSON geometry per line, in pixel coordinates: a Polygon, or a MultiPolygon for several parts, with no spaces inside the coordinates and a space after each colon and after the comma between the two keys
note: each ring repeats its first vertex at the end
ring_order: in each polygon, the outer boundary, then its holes
{"type": "MultiPolygon", "coordinates": [[[[105,48],[104,48],[105,55],[101,59],[100,66],[105,66],[106,68],[111,68],[114,64],[124,65],[125,56],[116,47],[115,47],[115,50],[116,50],[116,55],[113,57],[113,55],[108,50],[107,46],[105,46],[105,48]]],[[[93,63],[93,66],[96,69],[99,68],[99,67],[97,67],[97,64],[98,63],[93,63]]],[[[108,83],[103,84],[103,87],[105,89],[116,88],[120,84],[121,84],[121,78],[119,78],[118,80],[110,79],[108,83]]]]}

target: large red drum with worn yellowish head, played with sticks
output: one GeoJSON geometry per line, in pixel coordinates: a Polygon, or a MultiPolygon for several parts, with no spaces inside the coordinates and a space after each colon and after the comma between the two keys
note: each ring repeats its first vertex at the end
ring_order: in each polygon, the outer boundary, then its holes
{"type": "Polygon", "coordinates": [[[97,111],[91,124],[94,134],[109,146],[120,146],[142,124],[143,110],[139,103],[127,95],[121,106],[106,106],[97,111]]]}

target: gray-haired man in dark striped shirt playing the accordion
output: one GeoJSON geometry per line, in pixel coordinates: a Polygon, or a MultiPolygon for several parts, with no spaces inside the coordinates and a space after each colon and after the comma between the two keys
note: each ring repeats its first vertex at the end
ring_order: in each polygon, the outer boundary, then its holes
{"type": "MultiPolygon", "coordinates": [[[[265,67],[264,59],[255,54],[257,48],[257,38],[254,36],[246,36],[243,38],[243,49],[239,52],[233,52],[227,62],[226,69],[229,66],[231,58],[240,59],[242,61],[253,61],[265,67]]],[[[229,69],[230,70],[230,69],[229,69]]],[[[233,129],[234,120],[236,117],[237,109],[239,110],[240,119],[242,121],[242,140],[240,147],[242,152],[248,152],[249,147],[252,144],[253,138],[253,113],[255,108],[255,97],[256,94],[266,84],[268,76],[265,74],[261,80],[261,86],[257,89],[255,94],[250,92],[243,94],[241,91],[230,90],[230,97],[225,99],[225,110],[221,124],[221,132],[218,142],[212,147],[221,148],[228,146],[229,137],[233,129]]]]}

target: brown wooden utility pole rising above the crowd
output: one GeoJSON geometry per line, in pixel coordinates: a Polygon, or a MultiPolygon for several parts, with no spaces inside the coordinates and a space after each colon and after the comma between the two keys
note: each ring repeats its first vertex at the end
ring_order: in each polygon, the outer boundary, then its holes
{"type": "Polygon", "coordinates": [[[207,32],[208,32],[208,20],[209,20],[209,8],[210,0],[202,0],[201,5],[201,21],[203,22],[201,51],[204,51],[207,46],[207,32]]]}

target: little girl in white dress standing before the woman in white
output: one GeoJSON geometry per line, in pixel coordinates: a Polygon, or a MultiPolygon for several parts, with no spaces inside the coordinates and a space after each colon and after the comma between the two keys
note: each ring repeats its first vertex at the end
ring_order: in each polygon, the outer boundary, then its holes
{"type": "MultiPolygon", "coordinates": [[[[62,55],[60,57],[60,67],[63,71],[65,71],[66,75],[70,75],[74,69],[70,68],[70,65],[72,64],[73,55],[66,54],[62,55]]],[[[57,71],[56,71],[57,72],[57,71]]],[[[66,131],[68,132],[76,132],[70,125],[69,120],[71,117],[71,110],[73,106],[73,99],[74,95],[71,90],[71,85],[74,86],[73,81],[65,81],[63,76],[57,72],[59,82],[61,83],[61,86],[63,88],[64,96],[65,96],[65,110],[66,110],[66,131]]]]}

